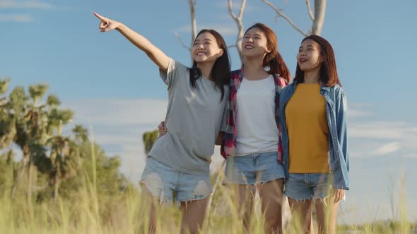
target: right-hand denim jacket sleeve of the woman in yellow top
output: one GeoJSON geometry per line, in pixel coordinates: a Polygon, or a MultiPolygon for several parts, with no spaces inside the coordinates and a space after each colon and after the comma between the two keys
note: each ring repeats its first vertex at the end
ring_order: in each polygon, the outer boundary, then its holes
{"type": "Polygon", "coordinates": [[[348,171],[349,171],[349,156],[348,156],[348,130],[347,130],[347,99],[346,94],[341,87],[336,88],[336,100],[334,105],[336,117],[336,133],[338,140],[339,152],[339,166],[334,171],[334,187],[348,190],[348,171]],[[341,178],[340,178],[341,177],[341,178]]]}

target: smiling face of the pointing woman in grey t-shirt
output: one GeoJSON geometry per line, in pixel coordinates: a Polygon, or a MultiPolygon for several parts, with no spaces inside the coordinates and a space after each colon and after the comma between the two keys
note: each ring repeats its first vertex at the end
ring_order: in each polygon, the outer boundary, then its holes
{"type": "Polygon", "coordinates": [[[192,58],[196,63],[214,62],[223,54],[223,49],[218,46],[216,37],[209,32],[201,33],[192,47],[192,58]]]}

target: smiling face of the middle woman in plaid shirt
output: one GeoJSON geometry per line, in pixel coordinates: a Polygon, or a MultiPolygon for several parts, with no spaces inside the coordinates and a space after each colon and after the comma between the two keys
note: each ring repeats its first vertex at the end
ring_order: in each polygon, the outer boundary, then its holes
{"type": "Polygon", "coordinates": [[[262,56],[268,54],[271,50],[268,48],[268,40],[262,30],[253,27],[247,30],[242,39],[242,54],[245,57],[262,56]]]}

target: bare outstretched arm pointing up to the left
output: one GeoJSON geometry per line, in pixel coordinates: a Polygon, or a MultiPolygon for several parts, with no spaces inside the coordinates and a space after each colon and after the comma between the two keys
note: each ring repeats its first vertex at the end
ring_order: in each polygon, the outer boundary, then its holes
{"type": "Polygon", "coordinates": [[[163,53],[163,51],[149,42],[146,37],[143,37],[139,33],[131,30],[129,27],[120,22],[117,22],[116,20],[105,18],[104,16],[100,16],[95,12],[94,16],[100,19],[100,32],[108,32],[110,30],[119,31],[132,44],[145,52],[146,55],[156,64],[156,66],[160,68],[160,70],[162,70],[164,73],[167,72],[170,59],[163,53]]]}

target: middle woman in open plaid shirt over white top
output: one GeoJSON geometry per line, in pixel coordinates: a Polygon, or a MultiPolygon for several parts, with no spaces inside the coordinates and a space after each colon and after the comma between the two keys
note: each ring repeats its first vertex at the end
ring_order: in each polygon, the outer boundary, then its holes
{"type": "Polygon", "coordinates": [[[226,159],[225,183],[235,187],[244,225],[254,211],[259,189],[266,233],[282,233],[283,178],[279,92],[290,72],[278,52],[270,27],[256,23],[242,39],[242,68],[232,72],[227,127],[221,154],[226,159]]]}

